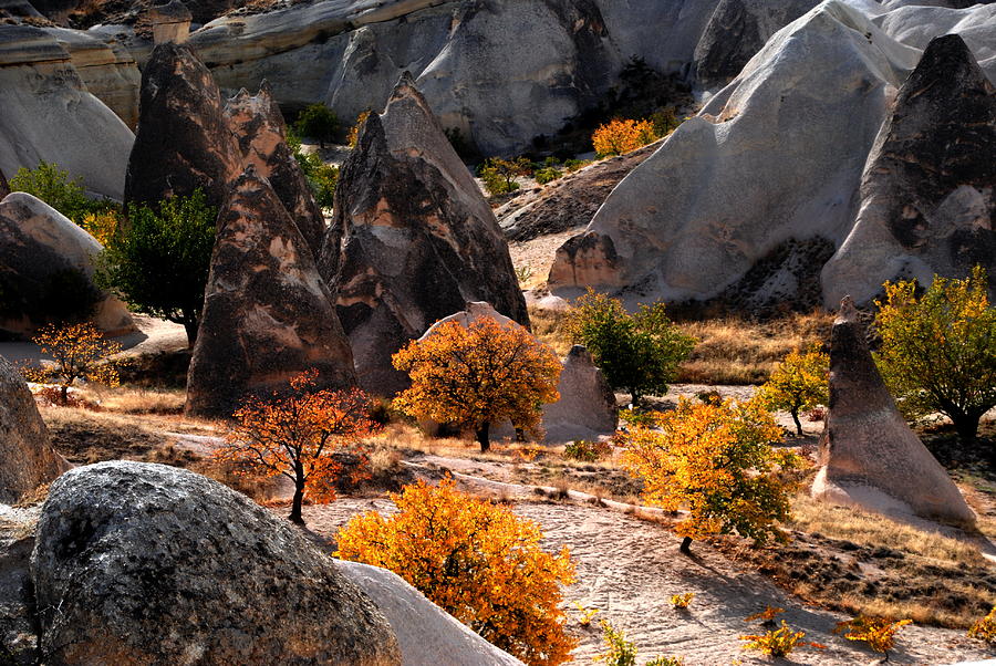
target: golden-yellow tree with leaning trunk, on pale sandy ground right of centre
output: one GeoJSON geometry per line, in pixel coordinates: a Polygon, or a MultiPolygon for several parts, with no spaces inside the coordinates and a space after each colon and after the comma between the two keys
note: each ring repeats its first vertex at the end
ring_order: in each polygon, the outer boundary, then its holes
{"type": "Polygon", "coordinates": [[[776,521],[789,518],[788,488],[779,469],[798,457],[776,454],[781,429],[759,400],[694,404],[656,417],[618,437],[623,464],[643,479],[644,498],[667,511],[686,509],[677,525],[682,552],[693,539],[737,532],[757,542],[780,538],[776,521]]]}

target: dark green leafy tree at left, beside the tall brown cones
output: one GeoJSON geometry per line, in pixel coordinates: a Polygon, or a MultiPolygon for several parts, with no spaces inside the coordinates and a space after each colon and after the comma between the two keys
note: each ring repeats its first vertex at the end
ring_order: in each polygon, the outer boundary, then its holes
{"type": "Polygon", "coordinates": [[[155,209],[133,206],[97,261],[98,284],[138,312],[183,324],[193,347],[215,244],[218,211],[204,192],[155,209]]]}

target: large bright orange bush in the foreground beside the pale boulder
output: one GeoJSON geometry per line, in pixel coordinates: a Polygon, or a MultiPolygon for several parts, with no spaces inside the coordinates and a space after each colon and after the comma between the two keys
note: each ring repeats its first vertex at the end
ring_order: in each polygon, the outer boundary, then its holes
{"type": "Polygon", "coordinates": [[[459,492],[453,479],[392,493],[339,531],[336,556],[390,569],[492,645],[535,666],[570,659],[560,585],[574,581],[567,548],[551,554],[531,520],[459,492]]]}

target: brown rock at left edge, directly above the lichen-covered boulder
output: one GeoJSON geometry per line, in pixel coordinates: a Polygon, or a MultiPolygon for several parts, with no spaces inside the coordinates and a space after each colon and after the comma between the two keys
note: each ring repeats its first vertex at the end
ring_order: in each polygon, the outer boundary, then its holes
{"type": "Polygon", "coordinates": [[[15,502],[68,467],[52,450],[24,379],[0,356],[0,502],[15,502]]]}

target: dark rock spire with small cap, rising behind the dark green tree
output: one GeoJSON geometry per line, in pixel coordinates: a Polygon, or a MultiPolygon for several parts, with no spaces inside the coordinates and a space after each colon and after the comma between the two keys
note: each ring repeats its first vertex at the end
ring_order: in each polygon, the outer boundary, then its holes
{"type": "Polygon", "coordinates": [[[241,159],[210,71],[187,46],[157,45],[142,72],[139,108],[125,204],[155,206],[200,188],[220,208],[241,159]]]}

